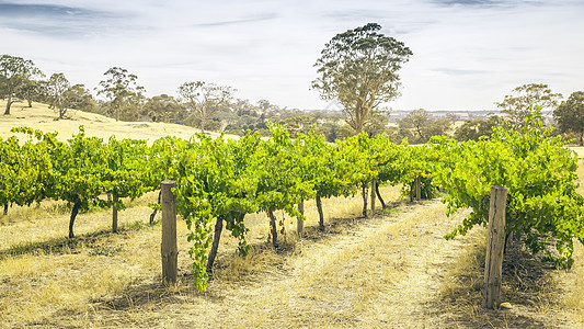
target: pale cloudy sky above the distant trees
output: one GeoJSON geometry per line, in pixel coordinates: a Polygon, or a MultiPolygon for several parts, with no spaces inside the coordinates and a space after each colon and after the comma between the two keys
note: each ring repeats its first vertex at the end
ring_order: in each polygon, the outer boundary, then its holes
{"type": "Polygon", "coordinates": [[[111,67],[148,97],[187,81],[282,107],[330,109],[313,67],[336,34],[378,23],[413,55],[393,110],[496,109],[516,87],[584,90],[582,0],[0,0],[0,55],[94,92],[111,67]]]}

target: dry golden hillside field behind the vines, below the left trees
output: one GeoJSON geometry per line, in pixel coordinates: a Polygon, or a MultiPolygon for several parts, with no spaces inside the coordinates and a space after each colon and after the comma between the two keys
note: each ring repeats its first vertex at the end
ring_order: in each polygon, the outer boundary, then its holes
{"type": "MultiPolygon", "coordinates": [[[[194,127],[156,123],[156,122],[116,122],[114,118],[106,117],[100,114],[88,113],[82,111],[69,110],[67,115],[69,118],[58,120],[57,113],[48,105],[33,103],[33,107],[25,107],[24,103],[14,103],[11,107],[10,115],[0,116],[0,137],[7,138],[13,134],[10,132],[12,127],[30,126],[43,132],[59,133],[59,140],[65,140],[77,134],[79,126],[85,127],[88,136],[98,136],[107,140],[110,136],[115,135],[121,138],[149,139],[150,141],[163,136],[176,136],[181,138],[190,138],[198,129],[194,127]]],[[[0,109],[5,107],[5,101],[0,100],[0,109]]],[[[208,133],[211,136],[217,136],[216,133],[208,133]]],[[[238,138],[237,136],[230,136],[238,138]]]]}

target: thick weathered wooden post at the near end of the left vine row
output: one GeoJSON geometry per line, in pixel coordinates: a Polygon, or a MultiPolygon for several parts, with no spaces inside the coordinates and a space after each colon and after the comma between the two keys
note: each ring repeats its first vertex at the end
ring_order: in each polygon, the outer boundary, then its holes
{"type": "Polygon", "coordinates": [[[176,248],[176,198],[172,193],[172,188],[176,186],[174,181],[162,181],[160,183],[161,207],[162,207],[162,243],[160,246],[162,254],[162,283],[176,283],[178,256],[176,248]]]}

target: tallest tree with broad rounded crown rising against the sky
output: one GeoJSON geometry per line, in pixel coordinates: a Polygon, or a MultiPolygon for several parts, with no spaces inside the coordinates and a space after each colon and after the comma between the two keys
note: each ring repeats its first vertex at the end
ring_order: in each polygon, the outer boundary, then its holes
{"type": "Polygon", "coordinates": [[[402,42],[369,23],[334,36],[314,64],[312,88],[325,101],[339,101],[347,124],[358,134],[378,106],[399,95],[398,71],[412,55],[402,42]]]}

